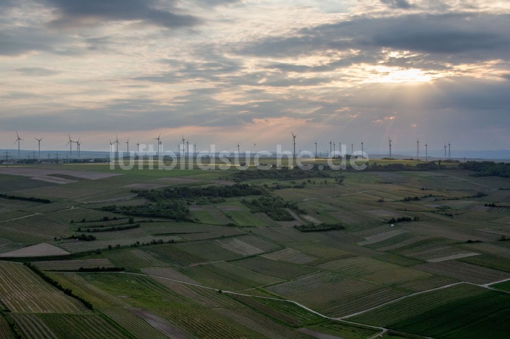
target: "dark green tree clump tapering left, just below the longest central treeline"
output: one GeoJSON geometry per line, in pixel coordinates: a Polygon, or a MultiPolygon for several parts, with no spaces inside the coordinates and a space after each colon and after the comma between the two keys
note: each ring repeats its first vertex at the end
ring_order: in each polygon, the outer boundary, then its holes
{"type": "Polygon", "coordinates": [[[164,201],[156,204],[137,206],[105,206],[103,211],[134,215],[139,217],[167,218],[174,220],[187,220],[189,209],[177,201],[164,201]]]}

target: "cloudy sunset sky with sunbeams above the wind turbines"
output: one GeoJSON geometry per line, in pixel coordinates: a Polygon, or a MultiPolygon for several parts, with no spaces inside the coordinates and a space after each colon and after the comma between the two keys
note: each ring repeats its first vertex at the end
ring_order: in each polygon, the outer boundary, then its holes
{"type": "Polygon", "coordinates": [[[509,130],[507,0],[0,0],[3,148],[501,150],[509,130]]]}

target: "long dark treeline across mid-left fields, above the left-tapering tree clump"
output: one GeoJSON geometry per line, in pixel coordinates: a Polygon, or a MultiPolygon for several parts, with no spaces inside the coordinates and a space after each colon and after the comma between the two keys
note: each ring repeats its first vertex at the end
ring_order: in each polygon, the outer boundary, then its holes
{"type": "Polygon", "coordinates": [[[261,187],[238,183],[231,186],[175,186],[158,190],[143,190],[138,191],[138,196],[144,197],[152,202],[159,202],[171,199],[195,199],[203,196],[227,198],[244,195],[262,195],[265,193],[266,191],[261,187]]]}

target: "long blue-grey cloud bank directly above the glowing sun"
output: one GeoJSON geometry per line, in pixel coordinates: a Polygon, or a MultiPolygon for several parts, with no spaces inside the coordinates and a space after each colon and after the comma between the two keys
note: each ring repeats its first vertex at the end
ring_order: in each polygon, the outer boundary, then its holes
{"type": "Polygon", "coordinates": [[[442,14],[358,17],[300,29],[291,36],[265,37],[242,47],[239,54],[258,56],[313,55],[319,51],[381,48],[423,53],[457,54],[449,60],[508,58],[510,15],[442,14]]]}

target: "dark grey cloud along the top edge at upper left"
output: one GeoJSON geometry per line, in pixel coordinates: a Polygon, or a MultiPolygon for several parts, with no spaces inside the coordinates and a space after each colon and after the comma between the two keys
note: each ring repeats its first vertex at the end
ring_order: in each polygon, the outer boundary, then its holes
{"type": "MultiPolygon", "coordinates": [[[[155,0],[43,0],[60,12],[55,26],[97,25],[109,21],[142,21],[169,28],[190,27],[200,23],[194,15],[174,8],[158,8],[155,0]]],[[[172,5],[173,2],[169,2],[172,5]]]]}

